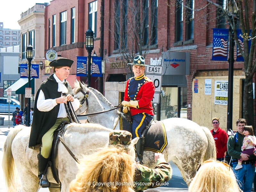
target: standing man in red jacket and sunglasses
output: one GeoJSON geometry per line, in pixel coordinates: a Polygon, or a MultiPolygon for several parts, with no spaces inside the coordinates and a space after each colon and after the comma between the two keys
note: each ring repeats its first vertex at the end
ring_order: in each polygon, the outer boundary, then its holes
{"type": "Polygon", "coordinates": [[[219,118],[214,117],[212,119],[212,126],[211,132],[216,144],[217,160],[224,161],[225,152],[227,151],[228,134],[223,129],[220,129],[219,118]]]}

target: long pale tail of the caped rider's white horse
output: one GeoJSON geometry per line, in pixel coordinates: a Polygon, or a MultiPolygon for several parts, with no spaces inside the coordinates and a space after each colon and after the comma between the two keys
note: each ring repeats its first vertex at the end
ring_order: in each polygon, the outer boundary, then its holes
{"type": "Polygon", "coordinates": [[[4,172],[4,179],[5,179],[7,191],[18,191],[17,190],[18,174],[14,164],[14,159],[12,156],[12,141],[22,129],[23,129],[23,126],[18,126],[12,129],[9,132],[4,143],[2,168],[4,172]]]}

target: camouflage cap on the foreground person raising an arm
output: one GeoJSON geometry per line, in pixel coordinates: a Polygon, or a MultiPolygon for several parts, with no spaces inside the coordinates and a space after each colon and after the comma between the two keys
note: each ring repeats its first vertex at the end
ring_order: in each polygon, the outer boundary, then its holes
{"type": "Polygon", "coordinates": [[[129,145],[132,141],[132,133],[124,130],[115,130],[109,133],[110,145],[129,145]]]}

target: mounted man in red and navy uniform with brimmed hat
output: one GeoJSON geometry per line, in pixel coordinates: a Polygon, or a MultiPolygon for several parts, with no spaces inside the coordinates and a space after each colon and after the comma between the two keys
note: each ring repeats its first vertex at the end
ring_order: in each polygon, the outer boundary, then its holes
{"type": "Polygon", "coordinates": [[[130,111],[132,118],[132,138],[140,137],[136,145],[136,152],[140,162],[142,162],[144,152],[144,137],[141,134],[148,123],[153,119],[154,112],[152,100],[155,93],[154,83],[144,75],[145,59],[141,55],[134,57],[132,71],[134,77],[127,80],[124,92],[123,112],[130,111]]]}

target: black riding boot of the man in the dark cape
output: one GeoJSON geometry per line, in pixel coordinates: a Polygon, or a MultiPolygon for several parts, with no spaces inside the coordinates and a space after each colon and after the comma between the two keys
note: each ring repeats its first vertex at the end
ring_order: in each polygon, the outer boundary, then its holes
{"type": "Polygon", "coordinates": [[[42,188],[50,187],[50,182],[46,177],[48,168],[48,158],[44,158],[40,153],[37,155],[38,158],[38,178],[40,179],[39,185],[42,188]]]}

